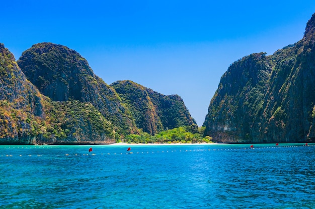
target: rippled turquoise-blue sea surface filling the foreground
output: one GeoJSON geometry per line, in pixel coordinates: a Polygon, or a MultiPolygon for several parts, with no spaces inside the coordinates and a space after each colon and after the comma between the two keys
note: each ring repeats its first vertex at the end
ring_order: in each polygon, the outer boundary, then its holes
{"type": "Polygon", "coordinates": [[[0,208],[315,208],[313,144],[250,146],[1,145],[0,208]]]}

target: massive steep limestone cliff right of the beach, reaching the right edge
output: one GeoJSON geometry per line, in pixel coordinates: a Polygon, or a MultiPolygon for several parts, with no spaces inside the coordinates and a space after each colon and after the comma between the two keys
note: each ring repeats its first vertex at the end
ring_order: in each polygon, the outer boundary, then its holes
{"type": "Polygon", "coordinates": [[[315,141],[315,14],[302,40],[227,69],[203,126],[217,142],[315,141]]]}

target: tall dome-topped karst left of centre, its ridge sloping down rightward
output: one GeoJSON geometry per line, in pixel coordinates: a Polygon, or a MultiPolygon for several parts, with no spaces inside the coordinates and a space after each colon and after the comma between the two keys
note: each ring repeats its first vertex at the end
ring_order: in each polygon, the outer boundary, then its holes
{"type": "Polygon", "coordinates": [[[53,101],[89,102],[111,123],[116,134],[137,133],[129,110],[115,90],[96,76],[87,60],[74,50],[52,43],[35,44],[17,63],[39,91],[53,101]]]}

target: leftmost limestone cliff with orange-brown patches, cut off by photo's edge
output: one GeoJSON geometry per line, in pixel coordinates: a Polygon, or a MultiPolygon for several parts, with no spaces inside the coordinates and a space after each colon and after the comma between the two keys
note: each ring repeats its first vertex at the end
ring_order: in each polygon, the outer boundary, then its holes
{"type": "Polygon", "coordinates": [[[44,118],[42,102],[14,55],[0,44],[0,144],[33,144],[35,126],[44,118]]]}

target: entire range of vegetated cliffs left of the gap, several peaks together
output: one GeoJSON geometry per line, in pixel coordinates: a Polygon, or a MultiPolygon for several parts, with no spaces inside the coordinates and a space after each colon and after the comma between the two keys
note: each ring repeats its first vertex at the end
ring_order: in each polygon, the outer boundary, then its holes
{"type": "Polygon", "coordinates": [[[3,44],[0,53],[0,143],[150,141],[159,131],[195,124],[179,96],[131,81],[117,82],[117,93],[67,47],[36,44],[18,62],[3,44]]]}

